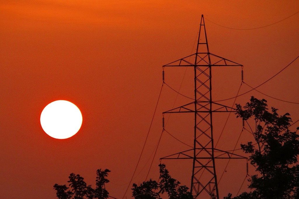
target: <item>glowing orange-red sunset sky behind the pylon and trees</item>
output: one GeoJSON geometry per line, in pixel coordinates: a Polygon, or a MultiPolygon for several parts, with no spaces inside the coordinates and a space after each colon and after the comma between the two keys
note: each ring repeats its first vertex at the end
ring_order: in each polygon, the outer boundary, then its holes
{"type": "MultiPolygon", "coordinates": [[[[158,100],[162,65],[195,53],[201,15],[210,52],[242,64],[244,82],[256,87],[298,57],[298,11],[297,0],[1,0],[0,197],[54,199],[55,183],[68,184],[74,172],[94,186],[100,168],[112,171],[106,189],[118,199],[136,166],[131,184],[144,181],[148,172],[147,179],[158,180],[160,157],[190,149],[164,131],[155,153],[162,112],[192,101],[165,84],[158,100]],[[82,112],[82,127],[69,139],[54,139],[40,125],[43,108],[55,100],[73,102],[82,112]]],[[[194,97],[192,67],[164,71],[167,85],[194,97]]],[[[213,100],[235,97],[241,68],[212,72],[213,100]]],[[[245,105],[254,95],[298,121],[298,74],[299,58],[257,88],[288,102],[251,91],[221,103],[245,105]]],[[[248,85],[242,84],[239,94],[251,90],[248,85]]],[[[164,117],[165,129],[192,145],[193,115],[164,117]]],[[[234,114],[215,114],[213,119],[217,148],[232,150],[251,139],[243,131],[237,142],[242,121],[234,114]]],[[[291,129],[297,126],[299,122],[291,129]]],[[[189,161],[162,163],[190,187],[189,161]]],[[[217,163],[217,177],[226,163],[217,163]]],[[[228,192],[235,196],[245,176],[246,161],[230,161],[218,185],[220,197],[228,192]]],[[[126,198],[131,198],[130,189],[126,198]]]]}

